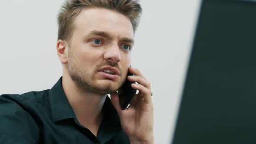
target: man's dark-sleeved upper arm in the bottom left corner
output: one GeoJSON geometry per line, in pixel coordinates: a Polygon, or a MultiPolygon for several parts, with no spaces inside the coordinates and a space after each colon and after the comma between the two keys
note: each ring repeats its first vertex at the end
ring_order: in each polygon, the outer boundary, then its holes
{"type": "Polygon", "coordinates": [[[0,144],[35,144],[39,128],[13,95],[0,95],[0,144]]]}

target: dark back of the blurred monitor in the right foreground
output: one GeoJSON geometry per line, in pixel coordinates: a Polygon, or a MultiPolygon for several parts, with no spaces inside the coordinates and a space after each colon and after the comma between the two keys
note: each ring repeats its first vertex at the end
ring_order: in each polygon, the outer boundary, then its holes
{"type": "Polygon", "coordinates": [[[203,0],[172,144],[256,144],[256,1],[203,0]]]}

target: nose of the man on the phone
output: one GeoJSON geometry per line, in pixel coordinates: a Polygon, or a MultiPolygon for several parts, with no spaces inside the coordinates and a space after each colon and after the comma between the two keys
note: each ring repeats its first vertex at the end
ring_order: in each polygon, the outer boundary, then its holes
{"type": "Polygon", "coordinates": [[[119,46],[109,46],[104,53],[104,59],[106,59],[108,62],[120,62],[121,56],[119,46]]]}

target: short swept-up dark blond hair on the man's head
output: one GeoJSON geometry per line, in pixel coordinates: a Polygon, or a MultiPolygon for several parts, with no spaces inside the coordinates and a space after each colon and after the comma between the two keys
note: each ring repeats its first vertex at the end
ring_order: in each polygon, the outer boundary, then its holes
{"type": "Polygon", "coordinates": [[[138,0],[66,0],[57,16],[58,40],[66,39],[68,43],[71,41],[74,20],[86,8],[105,8],[121,13],[129,18],[134,31],[142,13],[138,0]]]}

